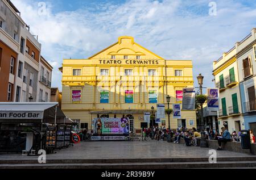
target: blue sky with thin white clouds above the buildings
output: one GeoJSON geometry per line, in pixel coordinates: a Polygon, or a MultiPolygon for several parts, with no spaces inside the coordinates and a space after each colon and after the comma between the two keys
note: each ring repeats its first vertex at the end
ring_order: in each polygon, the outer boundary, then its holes
{"type": "MultiPolygon", "coordinates": [[[[52,86],[61,89],[63,58],[87,58],[117,41],[135,41],[170,60],[192,60],[193,73],[213,87],[212,62],[256,27],[256,3],[218,0],[216,16],[207,0],[13,0],[31,32],[39,36],[42,55],[53,66],[52,86]],[[46,13],[39,13],[39,2],[46,13]]],[[[196,85],[195,85],[196,86],[196,85]]]]}

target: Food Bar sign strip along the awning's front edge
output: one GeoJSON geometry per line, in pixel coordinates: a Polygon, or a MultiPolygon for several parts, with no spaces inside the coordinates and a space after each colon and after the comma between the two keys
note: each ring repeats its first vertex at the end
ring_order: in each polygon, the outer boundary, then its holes
{"type": "Polygon", "coordinates": [[[0,119],[43,119],[44,112],[0,111],[0,119]]]}

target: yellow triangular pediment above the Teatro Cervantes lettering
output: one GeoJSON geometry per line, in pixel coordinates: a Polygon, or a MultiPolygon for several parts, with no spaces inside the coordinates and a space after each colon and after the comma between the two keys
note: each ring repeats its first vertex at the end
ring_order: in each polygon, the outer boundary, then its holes
{"type": "Polygon", "coordinates": [[[108,48],[103,49],[88,59],[108,59],[111,58],[112,55],[116,56],[116,58],[129,56],[129,58],[133,59],[136,56],[141,56],[142,59],[163,60],[162,57],[155,55],[155,53],[135,43],[134,38],[130,36],[119,37],[117,43],[110,45],[108,48]]]}

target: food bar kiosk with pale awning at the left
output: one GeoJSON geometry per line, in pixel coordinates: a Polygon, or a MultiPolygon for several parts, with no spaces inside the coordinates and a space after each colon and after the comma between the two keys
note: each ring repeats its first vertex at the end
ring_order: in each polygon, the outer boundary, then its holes
{"type": "Polygon", "coordinates": [[[0,151],[56,148],[58,124],[72,125],[57,102],[0,103],[0,151]]]}

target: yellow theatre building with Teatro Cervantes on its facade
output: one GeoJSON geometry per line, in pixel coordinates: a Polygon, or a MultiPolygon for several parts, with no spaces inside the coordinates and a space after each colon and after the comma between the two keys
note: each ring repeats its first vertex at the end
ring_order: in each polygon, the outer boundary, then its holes
{"type": "MultiPolygon", "coordinates": [[[[60,71],[61,108],[81,129],[91,129],[94,118],[126,117],[130,131],[141,132],[144,112],[156,111],[156,104],[167,108],[167,95],[172,108],[181,103],[182,89],[193,87],[191,60],[165,60],[129,36],[88,59],[64,59],[60,71]]],[[[170,122],[172,129],[196,127],[196,111],[171,115],[170,122]]],[[[167,115],[160,126],[168,128],[167,115]]]]}

